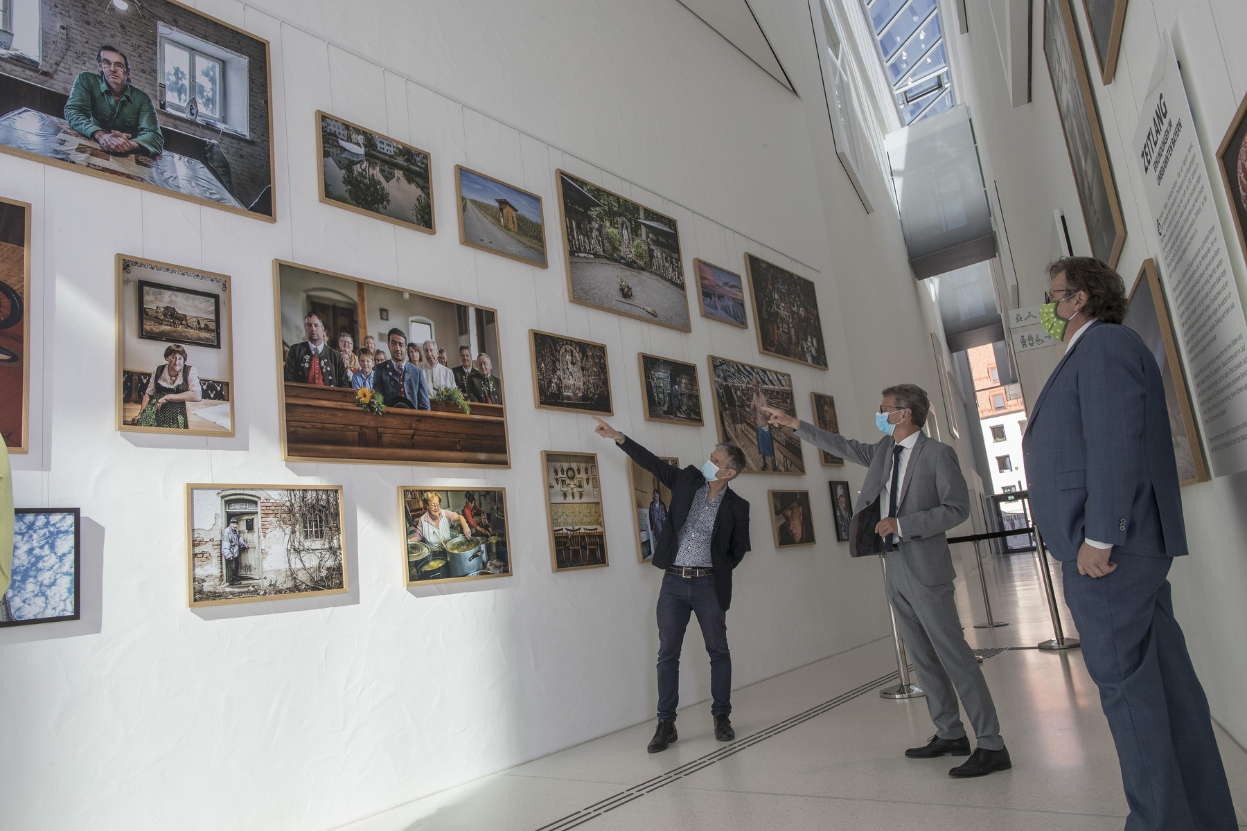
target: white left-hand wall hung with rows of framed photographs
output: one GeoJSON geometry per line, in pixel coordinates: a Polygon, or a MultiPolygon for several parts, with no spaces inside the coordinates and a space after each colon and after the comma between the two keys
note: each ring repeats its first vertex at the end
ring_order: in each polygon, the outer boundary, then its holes
{"type": "MultiPolygon", "coordinates": [[[[0,632],[0,826],[329,829],[652,718],[660,573],[637,563],[625,457],[587,416],[534,409],[527,329],[605,343],[612,424],[682,463],[713,420],[646,422],[637,351],[697,364],[710,412],[708,354],[791,373],[799,415],[834,395],[867,440],[882,386],[938,390],[885,186],[865,214],[835,159],[808,6],[757,4],[798,97],[675,0],[193,5],[271,42],[276,223],[0,156],[0,194],[34,206],[15,501],[84,517],[82,619],[0,632]],[[317,110],[431,153],[435,235],[318,202],[317,110]],[[549,269],[459,244],[456,163],[544,198],[549,269]],[[686,274],[752,252],[813,279],[829,370],[761,356],[695,294],[690,334],[569,304],[555,168],[675,217],[686,274]],[[117,253],[232,277],[234,437],[115,431],[117,253]],[[274,258],[499,309],[511,467],[283,462],[274,258]],[[600,455],[609,568],[551,573],[542,450],[600,455]],[[349,592],[188,609],[187,482],[342,485],[349,592]],[[397,488],[418,485],[505,487],[514,576],[405,588],[397,488]]],[[[737,686],[888,632],[877,563],[834,542],[827,480],[855,491],[862,470],[806,465],[736,486],[737,686]],[[774,549],[767,488],[811,491],[817,547],[774,549]]],[[[692,703],[696,628],[685,648],[692,703]]]]}

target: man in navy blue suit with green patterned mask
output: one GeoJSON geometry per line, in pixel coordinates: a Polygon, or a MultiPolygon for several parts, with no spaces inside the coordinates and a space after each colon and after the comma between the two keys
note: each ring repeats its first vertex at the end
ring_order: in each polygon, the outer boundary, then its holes
{"type": "Polygon", "coordinates": [[[1041,319],[1065,356],[1035,401],[1023,452],[1035,526],[1061,561],[1117,745],[1126,830],[1230,831],[1230,785],[1167,579],[1187,548],[1160,368],[1120,325],[1127,300],[1116,272],[1067,257],[1049,277],[1041,319]]]}

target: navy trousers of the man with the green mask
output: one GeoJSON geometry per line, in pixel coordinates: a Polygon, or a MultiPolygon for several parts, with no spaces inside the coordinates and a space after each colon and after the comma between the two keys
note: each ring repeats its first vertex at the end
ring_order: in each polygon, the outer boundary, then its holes
{"type": "Polygon", "coordinates": [[[1117,745],[1126,831],[1237,831],[1208,699],[1173,619],[1168,557],[1111,556],[1100,578],[1064,562],[1065,602],[1117,745]]]}

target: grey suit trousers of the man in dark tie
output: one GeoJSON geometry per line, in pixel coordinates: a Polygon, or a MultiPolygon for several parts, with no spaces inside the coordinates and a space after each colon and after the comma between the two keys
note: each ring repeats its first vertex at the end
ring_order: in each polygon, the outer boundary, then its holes
{"type": "MultiPolygon", "coordinates": [[[[903,526],[902,526],[903,527],[903,526]]],[[[888,559],[888,599],[897,613],[897,627],[914,664],[918,683],[927,693],[927,709],[940,739],[965,735],[956,699],[965,705],[976,736],[976,746],[1000,750],[996,705],[979,660],[961,634],[961,619],[953,601],[953,583],[924,586],[918,581],[899,551],[888,559]]]]}

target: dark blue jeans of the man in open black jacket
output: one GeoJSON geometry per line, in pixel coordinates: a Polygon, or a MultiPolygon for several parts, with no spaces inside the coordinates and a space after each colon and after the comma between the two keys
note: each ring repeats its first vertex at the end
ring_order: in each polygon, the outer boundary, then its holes
{"type": "Polygon", "coordinates": [[[713,577],[662,576],[658,592],[658,720],[675,721],[680,706],[680,649],[688,614],[697,613],[710,655],[712,715],[732,711],[732,653],[727,649],[727,613],[718,604],[713,577]]]}

